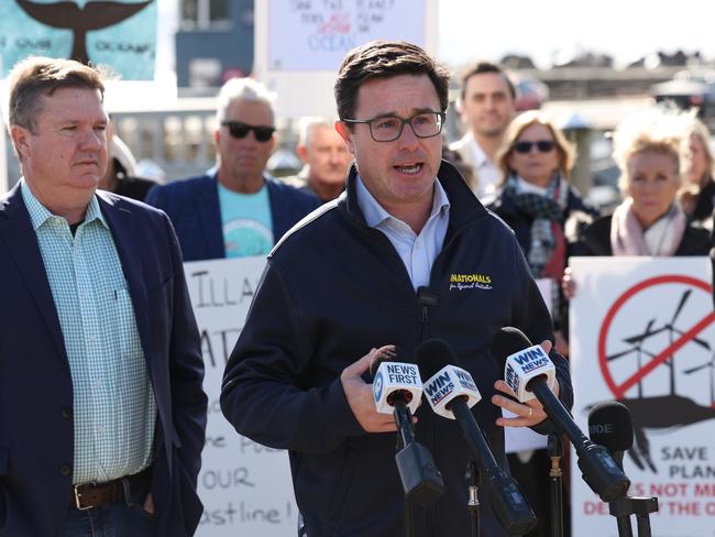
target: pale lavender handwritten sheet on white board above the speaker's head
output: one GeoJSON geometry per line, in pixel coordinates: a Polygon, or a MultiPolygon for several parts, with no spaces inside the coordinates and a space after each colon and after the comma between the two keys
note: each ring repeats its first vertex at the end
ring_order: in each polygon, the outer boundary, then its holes
{"type": "Polygon", "coordinates": [[[425,46],[425,0],[270,0],[268,70],[337,72],[376,39],[425,46]]]}

